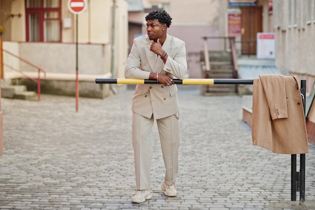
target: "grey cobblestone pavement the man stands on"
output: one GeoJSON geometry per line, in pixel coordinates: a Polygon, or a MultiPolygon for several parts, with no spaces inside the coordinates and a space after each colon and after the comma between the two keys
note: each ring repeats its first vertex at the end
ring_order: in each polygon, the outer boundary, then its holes
{"type": "Polygon", "coordinates": [[[153,196],[140,204],[130,199],[133,90],[80,98],[78,113],[71,97],[2,99],[0,209],[315,209],[313,145],[306,155],[306,202],[298,205],[290,201],[290,155],[252,146],[241,97],[179,89],[178,196],[166,197],[160,188],[165,169],[154,123],[153,196]]]}

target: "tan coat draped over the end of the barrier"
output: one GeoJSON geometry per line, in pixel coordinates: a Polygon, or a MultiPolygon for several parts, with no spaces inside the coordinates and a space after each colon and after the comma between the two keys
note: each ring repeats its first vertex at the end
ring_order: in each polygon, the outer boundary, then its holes
{"type": "Polygon", "coordinates": [[[261,75],[254,79],[253,145],[273,153],[308,153],[302,99],[295,76],[261,75]]]}

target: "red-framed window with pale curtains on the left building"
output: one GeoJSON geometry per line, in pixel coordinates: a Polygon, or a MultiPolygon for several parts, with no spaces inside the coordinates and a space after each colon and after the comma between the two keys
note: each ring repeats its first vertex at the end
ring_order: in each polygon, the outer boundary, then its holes
{"type": "Polygon", "coordinates": [[[26,0],[26,41],[61,41],[60,5],[60,0],[26,0]]]}

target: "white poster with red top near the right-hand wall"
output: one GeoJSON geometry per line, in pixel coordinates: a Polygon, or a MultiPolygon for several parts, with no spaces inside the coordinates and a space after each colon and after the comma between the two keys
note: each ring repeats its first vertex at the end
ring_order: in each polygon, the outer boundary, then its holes
{"type": "Polygon", "coordinates": [[[275,34],[257,33],[257,58],[275,59],[275,34]]]}

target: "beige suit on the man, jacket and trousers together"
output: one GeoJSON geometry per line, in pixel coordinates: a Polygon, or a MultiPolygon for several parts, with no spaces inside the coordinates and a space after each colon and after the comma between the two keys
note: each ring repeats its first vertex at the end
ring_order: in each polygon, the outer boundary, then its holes
{"type": "MultiPolygon", "coordinates": [[[[183,79],[187,72],[185,42],[167,35],[162,46],[169,57],[166,63],[150,51],[147,35],[134,39],[125,67],[125,78],[148,79],[150,73],[183,79]]],[[[151,130],[153,120],[159,129],[165,182],[172,185],[178,173],[179,114],[177,86],[162,84],[137,85],[132,100],[132,142],[134,149],[136,186],[149,189],[151,166],[151,130]]]]}

